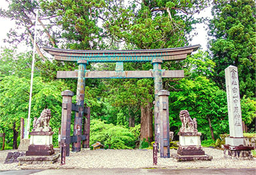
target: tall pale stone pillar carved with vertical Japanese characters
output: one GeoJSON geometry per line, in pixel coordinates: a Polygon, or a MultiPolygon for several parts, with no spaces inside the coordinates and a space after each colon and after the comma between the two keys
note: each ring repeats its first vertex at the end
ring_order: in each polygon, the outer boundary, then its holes
{"type": "Polygon", "coordinates": [[[224,155],[230,158],[253,159],[251,155],[253,146],[245,146],[244,144],[238,71],[235,66],[229,66],[225,69],[225,80],[230,137],[225,138],[224,155]]]}

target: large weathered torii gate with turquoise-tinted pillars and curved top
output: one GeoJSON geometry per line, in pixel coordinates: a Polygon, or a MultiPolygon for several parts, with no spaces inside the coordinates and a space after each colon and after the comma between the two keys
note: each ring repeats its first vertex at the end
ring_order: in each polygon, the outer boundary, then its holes
{"type": "MultiPolygon", "coordinates": [[[[89,78],[153,78],[155,87],[155,142],[160,143],[161,157],[170,157],[169,150],[169,122],[168,114],[163,118],[159,108],[159,91],[163,90],[162,78],[182,78],[184,70],[162,70],[163,61],[180,61],[186,59],[200,45],[176,47],[168,49],[147,50],[69,50],[44,47],[44,51],[54,56],[57,61],[69,61],[78,63],[78,71],[58,71],[57,78],[77,78],[76,105],[78,109],[74,116],[74,132],[76,142],[72,144],[72,151],[80,152],[82,136],[82,117],[84,116],[84,90],[85,80],[89,78]],[[116,62],[116,71],[89,71],[86,66],[90,62],[116,62]],[[153,70],[148,71],[125,71],[123,62],[152,62],[153,70]],[[163,122],[164,120],[164,122],[163,122]],[[162,125],[160,129],[160,123],[162,125]],[[165,130],[164,130],[164,129],[165,130]],[[160,137],[161,135],[161,137],[160,137]]],[[[168,93],[164,93],[168,96],[168,93]]],[[[163,95],[163,94],[162,94],[163,95]]],[[[161,109],[168,109],[167,104],[161,109]]],[[[168,111],[168,110],[167,110],[168,111]]],[[[69,126],[70,128],[70,126],[69,126]]],[[[69,142],[67,142],[69,146],[69,142]]]]}

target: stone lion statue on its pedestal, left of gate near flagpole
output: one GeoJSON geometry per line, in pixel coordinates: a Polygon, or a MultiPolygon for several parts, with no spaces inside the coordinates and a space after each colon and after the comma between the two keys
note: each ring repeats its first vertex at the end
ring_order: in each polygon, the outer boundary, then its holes
{"type": "Polygon", "coordinates": [[[57,161],[59,154],[54,154],[54,146],[52,144],[54,132],[49,126],[50,118],[50,109],[44,109],[39,118],[34,118],[33,129],[29,133],[31,138],[29,148],[25,153],[26,156],[18,158],[20,165],[24,163],[52,164],[57,161]]]}

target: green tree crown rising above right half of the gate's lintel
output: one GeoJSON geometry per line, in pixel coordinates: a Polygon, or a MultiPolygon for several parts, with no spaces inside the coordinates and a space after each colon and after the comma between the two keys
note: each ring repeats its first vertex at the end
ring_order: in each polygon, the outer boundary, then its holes
{"type": "Polygon", "coordinates": [[[193,14],[206,7],[208,1],[131,1],[129,7],[116,4],[105,12],[104,28],[112,40],[140,48],[181,47],[191,38],[193,14]]]}

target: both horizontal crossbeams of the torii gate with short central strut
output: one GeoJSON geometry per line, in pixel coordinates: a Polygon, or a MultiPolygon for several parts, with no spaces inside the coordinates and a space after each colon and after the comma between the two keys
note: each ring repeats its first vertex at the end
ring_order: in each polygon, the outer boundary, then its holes
{"type": "MultiPolygon", "coordinates": [[[[86,70],[85,78],[153,78],[152,71],[123,71],[123,62],[179,61],[196,51],[200,45],[148,50],[67,50],[44,47],[57,61],[116,62],[116,71],[86,70]]],[[[162,70],[162,77],[184,77],[183,70],[162,70]]],[[[57,78],[78,78],[78,71],[58,71],[57,78]]]]}

